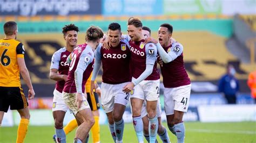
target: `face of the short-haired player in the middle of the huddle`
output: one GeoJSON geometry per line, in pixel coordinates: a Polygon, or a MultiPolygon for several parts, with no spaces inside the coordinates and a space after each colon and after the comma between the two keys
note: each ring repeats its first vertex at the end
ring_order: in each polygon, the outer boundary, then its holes
{"type": "Polygon", "coordinates": [[[109,42],[112,47],[117,47],[120,42],[120,37],[122,33],[119,30],[109,30],[107,36],[109,37],[109,42]]]}

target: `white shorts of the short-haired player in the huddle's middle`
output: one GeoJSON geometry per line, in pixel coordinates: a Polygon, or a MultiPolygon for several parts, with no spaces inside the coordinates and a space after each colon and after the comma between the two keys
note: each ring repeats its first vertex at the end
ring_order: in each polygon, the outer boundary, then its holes
{"type": "Polygon", "coordinates": [[[127,105],[129,95],[123,91],[123,87],[129,82],[120,84],[108,84],[102,82],[100,87],[101,90],[101,101],[102,107],[106,113],[112,112],[114,109],[114,103],[127,105]]]}

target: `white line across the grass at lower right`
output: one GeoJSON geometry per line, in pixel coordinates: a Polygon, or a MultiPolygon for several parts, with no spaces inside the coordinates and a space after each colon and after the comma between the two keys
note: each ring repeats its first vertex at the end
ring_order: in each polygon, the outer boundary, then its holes
{"type": "Polygon", "coordinates": [[[223,131],[223,130],[207,130],[207,129],[186,129],[186,131],[205,132],[205,133],[256,134],[256,131],[223,131]]]}

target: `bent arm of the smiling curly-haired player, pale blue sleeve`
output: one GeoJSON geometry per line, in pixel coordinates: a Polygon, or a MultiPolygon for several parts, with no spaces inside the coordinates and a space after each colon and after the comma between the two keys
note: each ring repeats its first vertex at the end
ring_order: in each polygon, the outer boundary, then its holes
{"type": "Polygon", "coordinates": [[[55,81],[66,81],[67,75],[58,74],[60,53],[55,52],[51,58],[50,79],[55,81]]]}

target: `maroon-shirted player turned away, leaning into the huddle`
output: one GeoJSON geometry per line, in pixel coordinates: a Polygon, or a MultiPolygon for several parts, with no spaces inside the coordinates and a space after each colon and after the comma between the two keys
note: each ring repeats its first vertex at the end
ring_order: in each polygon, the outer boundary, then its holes
{"type": "Polygon", "coordinates": [[[86,43],[78,45],[67,59],[70,68],[62,95],[65,104],[72,110],[78,122],[75,142],[83,142],[95,123],[89,103],[83,93],[84,85],[93,69],[93,51],[102,37],[103,32],[99,27],[90,26],[86,30],[86,43]]]}

